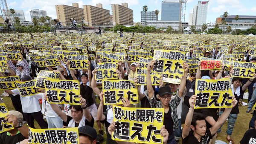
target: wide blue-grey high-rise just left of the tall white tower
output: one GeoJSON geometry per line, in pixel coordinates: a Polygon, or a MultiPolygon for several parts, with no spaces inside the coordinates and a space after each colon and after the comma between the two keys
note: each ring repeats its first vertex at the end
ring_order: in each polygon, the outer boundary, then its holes
{"type": "Polygon", "coordinates": [[[180,21],[181,3],[179,0],[163,0],[161,20],[180,21]]]}

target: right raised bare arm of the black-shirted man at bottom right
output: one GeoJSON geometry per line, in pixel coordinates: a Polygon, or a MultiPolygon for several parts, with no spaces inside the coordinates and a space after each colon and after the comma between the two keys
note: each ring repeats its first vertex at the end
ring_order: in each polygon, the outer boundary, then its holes
{"type": "MultiPolygon", "coordinates": [[[[232,107],[235,107],[237,104],[237,100],[235,99],[235,96],[233,96],[232,101],[232,107]]],[[[226,121],[228,116],[230,115],[230,112],[232,110],[231,108],[225,108],[225,111],[222,113],[222,115],[218,118],[218,121],[210,128],[211,134],[214,135],[217,133],[217,130],[221,127],[221,125],[226,121]]]]}

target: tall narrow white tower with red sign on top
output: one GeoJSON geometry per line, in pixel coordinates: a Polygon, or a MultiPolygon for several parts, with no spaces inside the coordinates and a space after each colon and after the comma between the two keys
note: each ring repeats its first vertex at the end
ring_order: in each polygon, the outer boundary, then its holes
{"type": "Polygon", "coordinates": [[[207,11],[208,11],[208,2],[206,0],[198,1],[198,9],[196,15],[196,25],[203,25],[206,23],[207,11]]]}

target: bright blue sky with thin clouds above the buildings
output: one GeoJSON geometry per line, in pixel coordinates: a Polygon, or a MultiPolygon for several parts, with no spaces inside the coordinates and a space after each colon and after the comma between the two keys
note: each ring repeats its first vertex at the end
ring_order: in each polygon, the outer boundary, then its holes
{"type": "MultiPolygon", "coordinates": [[[[8,8],[21,9],[24,11],[26,21],[31,21],[29,11],[31,9],[46,10],[47,15],[53,19],[57,18],[55,5],[69,5],[79,3],[79,7],[83,5],[96,6],[96,3],[102,3],[103,8],[108,9],[110,14],[111,4],[128,3],[128,8],[134,12],[134,22],[140,22],[140,11],[143,6],[148,6],[148,11],[159,10],[159,18],[161,20],[161,3],[162,0],[6,0],[8,8]]],[[[256,0],[209,0],[207,23],[213,22],[220,17],[224,11],[228,11],[229,15],[256,15],[256,0]],[[254,4],[253,4],[254,3],[254,4]]],[[[198,0],[188,0],[186,3],[185,21],[189,21],[189,13],[192,13],[193,7],[198,4],[198,0]]]]}

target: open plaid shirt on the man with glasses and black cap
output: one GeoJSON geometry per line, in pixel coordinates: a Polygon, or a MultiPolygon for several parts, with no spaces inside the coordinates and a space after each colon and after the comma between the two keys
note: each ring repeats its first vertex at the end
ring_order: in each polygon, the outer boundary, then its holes
{"type": "MultiPolygon", "coordinates": [[[[178,93],[178,90],[177,90],[177,93],[178,93]]],[[[171,116],[172,116],[172,120],[173,120],[173,123],[174,123],[173,124],[173,130],[178,129],[178,127],[179,127],[179,120],[178,120],[178,115],[177,115],[177,107],[180,104],[181,98],[178,96],[177,93],[175,93],[175,98],[172,99],[169,102],[169,107],[170,107],[169,110],[172,110],[171,116]]],[[[148,91],[147,90],[145,90],[144,95],[148,97],[148,91]]],[[[162,105],[161,105],[161,102],[156,100],[156,97],[154,96],[154,94],[153,94],[153,98],[152,99],[148,99],[148,100],[149,100],[149,103],[150,103],[152,108],[163,108],[162,105]]]]}

